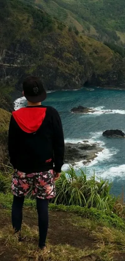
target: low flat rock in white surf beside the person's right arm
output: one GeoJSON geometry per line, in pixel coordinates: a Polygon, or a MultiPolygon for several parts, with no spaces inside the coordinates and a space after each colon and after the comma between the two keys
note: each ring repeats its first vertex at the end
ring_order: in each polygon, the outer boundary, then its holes
{"type": "Polygon", "coordinates": [[[100,151],[103,151],[103,148],[96,143],[66,143],[65,163],[74,164],[75,162],[83,161],[83,164],[86,164],[96,158],[100,151]]]}

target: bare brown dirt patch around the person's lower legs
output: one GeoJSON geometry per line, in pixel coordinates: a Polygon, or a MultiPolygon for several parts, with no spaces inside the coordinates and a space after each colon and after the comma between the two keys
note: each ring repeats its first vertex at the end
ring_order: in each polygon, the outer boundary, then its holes
{"type": "MultiPolygon", "coordinates": [[[[73,247],[83,249],[85,247],[94,248],[94,239],[87,234],[84,229],[79,229],[70,224],[69,213],[65,212],[50,212],[49,214],[49,229],[48,241],[51,245],[68,244],[73,247]]],[[[23,212],[23,222],[30,227],[38,226],[37,216],[29,210],[23,212]]],[[[0,228],[11,223],[10,217],[0,220],[0,228]]],[[[1,261],[1,259],[0,259],[1,261]]]]}

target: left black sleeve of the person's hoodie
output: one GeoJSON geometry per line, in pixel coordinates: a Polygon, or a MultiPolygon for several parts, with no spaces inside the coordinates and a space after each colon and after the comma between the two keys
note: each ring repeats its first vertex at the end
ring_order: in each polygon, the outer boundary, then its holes
{"type": "Polygon", "coordinates": [[[15,151],[16,151],[16,126],[15,126],[15,120],[13,116],[11,116],[10,120],[10,126],[9,126],[9,133],[8,133],[8,150],[9,150],[9,156],[10,156],[10,163],[14,166],[14,158],[15,158],[15,151]]]}

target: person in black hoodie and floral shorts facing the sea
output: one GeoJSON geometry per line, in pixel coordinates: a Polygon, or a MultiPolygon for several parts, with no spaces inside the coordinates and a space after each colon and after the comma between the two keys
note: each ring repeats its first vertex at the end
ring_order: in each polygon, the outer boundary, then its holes
{"type": "Polygon", "coordinates": [[[12,226],[21,240],[23,203],[32,187],[36,197],[39,226],[39,248],[46,247],[48,203],[56,196],[55,180],[64,164],[64,135],[58,112],[41,105],[46,91],[39,77],[29,76],[23,82],[26,108],[11,115],[8,150],[14,168],[12,177],[12,226]]]}

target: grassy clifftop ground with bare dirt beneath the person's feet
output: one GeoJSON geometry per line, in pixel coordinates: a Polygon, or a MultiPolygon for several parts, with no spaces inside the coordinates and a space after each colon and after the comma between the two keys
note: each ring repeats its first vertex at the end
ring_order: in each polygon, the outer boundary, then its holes
{"type": "MultiPolygon", "coordinates": [[[[125,258],[125,225],[123,231],[112,227],[110,223],[97,218],[96,210],[95,213],[93,212],[92,220],[88,216],[82,217],[82,214],[76,214],[75,207],[72,215],[69,215],[66,207],[54,207],[50,204],[47,250],[42,252],[37,247],[38,222],[33,207],[35,202],[33,201],[32,204],[31,200],[25,201],[22,237],[26,237],[21,243],[18,243],[11,228],[9,208],[12,196],[0,194],[2,206],[3,202],[4,207],[6,205],[8,209],[1,208],[0,211],[0,261],[8,259],[9,261],[29,261],[31,259],[33,261],[119,261],[125,258]],[[88,255],[90,255],[89,258],[86,257],[88,255]],[[96,259],[97,256],[100,259],[96,259]]],[[[102,212],[102,216],[105,216],[104,212],[102,212]]]]}

